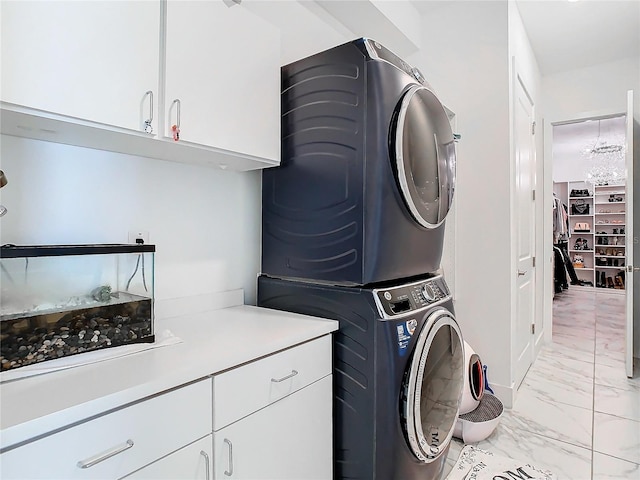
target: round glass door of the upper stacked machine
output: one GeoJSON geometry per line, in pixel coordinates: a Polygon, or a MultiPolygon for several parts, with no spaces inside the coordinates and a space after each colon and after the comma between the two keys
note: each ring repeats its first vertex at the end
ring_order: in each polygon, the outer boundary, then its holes
{"type": "Polygon", "coordinates": [[[456,152],[447,112],[428,88],[414,85],[395,114],[393,154],[407,208],[425,228],[439,226],[453,202],[456,152]]]}

